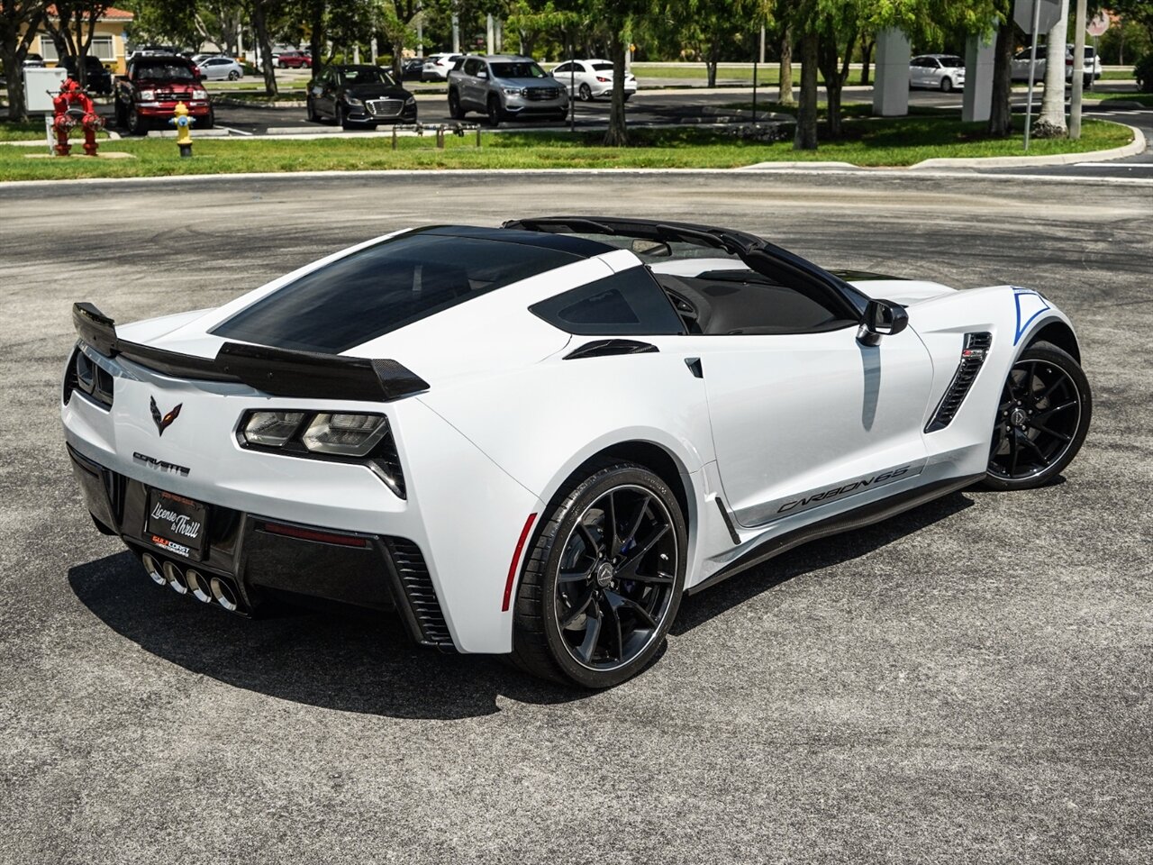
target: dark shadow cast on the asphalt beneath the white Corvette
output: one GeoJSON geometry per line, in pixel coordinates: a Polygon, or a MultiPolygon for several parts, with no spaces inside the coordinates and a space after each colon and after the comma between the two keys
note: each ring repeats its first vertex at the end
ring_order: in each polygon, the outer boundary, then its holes
{"type": "MultiPolygon", "coordinates": [[[[802,573],[864,555],[965,507],[964,495],[876,526],[811,543],[686,599],[683,634],[802,573]]],[[[408,641],[394,616],[278,611],[246,619],[152,584],[127,550],[68,572],[98,618],[153,655],[235,687],[312,706],[393,717],[464,719],[499,710],[498,697],[560,704],[591,692],[530,678],[499,659],[440,654],[408,641]]]]}

